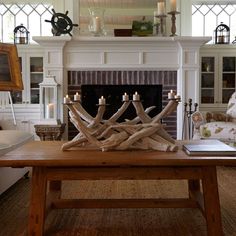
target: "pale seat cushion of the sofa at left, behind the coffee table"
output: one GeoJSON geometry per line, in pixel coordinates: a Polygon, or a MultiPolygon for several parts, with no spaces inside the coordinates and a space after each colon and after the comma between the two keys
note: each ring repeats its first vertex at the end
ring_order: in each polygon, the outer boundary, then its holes
{"type": "Polygon", "coordinates": [[[21,130],[0,130],[0,156],[33,140],[33,134],[21,130]]]}

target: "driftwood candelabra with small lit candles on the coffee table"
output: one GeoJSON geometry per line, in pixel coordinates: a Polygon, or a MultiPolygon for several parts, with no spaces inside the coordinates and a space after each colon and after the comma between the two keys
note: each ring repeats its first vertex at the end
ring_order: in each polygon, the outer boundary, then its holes
{"type": "Polygon", "coordinates": [[[168,94],[168,104],[153,118],[148,113],[154,107],[144,110],[139,97],[136,98],[138,99],[133,101],[123,99],[122,106],[107,120],[103,119],[106,109],[103,97],[99,99],[98,112],[95,117],[87,113],[80,102],[71,102],[67,99],[65,105],[70,110],[70,120],[79,133],[73,140],[64,143],[62,150],[68,150],[72,147],[87,149],[95,147],[102,151],[127,149],[176,151],[178,148],[175,140],[165,131],[161,119],[176,110],[180,96],[170,97],[168,94]],[[130,105],[135,107],[137,117],[118,123],[118,118],[130,105]]]}

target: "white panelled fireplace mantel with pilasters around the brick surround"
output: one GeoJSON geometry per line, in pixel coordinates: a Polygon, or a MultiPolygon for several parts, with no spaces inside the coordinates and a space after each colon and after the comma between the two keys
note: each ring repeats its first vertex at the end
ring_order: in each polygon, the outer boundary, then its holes
{"type": "MultiPolygon", "coordinates": [[[[183,103],[199,103],[199,49],[210,37],[33,37],[44,47],[44,71],[56,76],[66,94],[68,70],[177,71],[177,138],[181,138],[183,103]]],[[[61,111],[63,108],[61,107],[61,111]]],[[[61,119],[65,114],[61,112],[61,119]]]]}

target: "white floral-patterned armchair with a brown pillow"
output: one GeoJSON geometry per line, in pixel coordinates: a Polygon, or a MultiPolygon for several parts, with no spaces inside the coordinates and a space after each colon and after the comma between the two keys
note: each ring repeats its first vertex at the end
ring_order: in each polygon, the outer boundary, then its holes
{"type": "Polygon", "coordinates": [[[229,99],[226,113],[199,111],[192,114],[193,139],[236,141],[236,92],[229,99]]]}

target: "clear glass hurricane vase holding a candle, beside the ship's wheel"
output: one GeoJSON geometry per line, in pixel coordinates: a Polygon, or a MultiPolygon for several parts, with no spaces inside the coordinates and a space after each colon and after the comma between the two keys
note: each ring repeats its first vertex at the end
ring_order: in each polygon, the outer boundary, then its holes
{"type": "Polygon", "coordinates": [[[89,8],[89,32],[94,36],[102,36],[105,34],[104,30],[104,12],[103,8],[89,8]]]}

